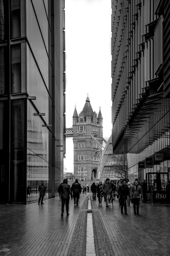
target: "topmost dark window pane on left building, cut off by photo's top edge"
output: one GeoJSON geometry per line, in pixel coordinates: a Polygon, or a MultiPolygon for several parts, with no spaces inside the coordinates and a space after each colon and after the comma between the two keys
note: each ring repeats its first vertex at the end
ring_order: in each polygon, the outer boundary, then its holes
{"type": "Polygon", "coordinates": [[[11,0],[11,38],[21,37],[20,0],[11,0]]]}

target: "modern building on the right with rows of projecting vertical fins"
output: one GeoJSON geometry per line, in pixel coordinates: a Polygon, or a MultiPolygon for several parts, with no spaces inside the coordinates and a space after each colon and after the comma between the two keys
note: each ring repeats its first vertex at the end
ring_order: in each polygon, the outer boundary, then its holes
{"type": "Polygon", "coordinates": [[[112,145],[129,179],[170,179],[170,1],[112,2],[112,145]]]}

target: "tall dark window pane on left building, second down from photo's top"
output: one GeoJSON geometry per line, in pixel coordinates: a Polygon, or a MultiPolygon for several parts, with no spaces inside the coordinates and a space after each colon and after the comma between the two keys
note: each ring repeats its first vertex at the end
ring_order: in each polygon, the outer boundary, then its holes
{"type": "Polygon", "coordinates": [[[21,44],[11,47],[11,93],[21,93],[21,44]]]}

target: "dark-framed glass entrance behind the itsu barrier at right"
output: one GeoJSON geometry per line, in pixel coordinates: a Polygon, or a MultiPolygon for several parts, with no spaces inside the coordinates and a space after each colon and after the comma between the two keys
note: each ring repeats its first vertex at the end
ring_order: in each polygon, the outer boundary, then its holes
{"type": "Polygon", "coordinates": [[[146,174],[146,182],[148,185],[148,190],[157,190],[157,191],[165,191],[165,187],[168,182],[168,173],[147,173],[146,174]],[[151,189],[152,188],[152,189],[151,189]]]}

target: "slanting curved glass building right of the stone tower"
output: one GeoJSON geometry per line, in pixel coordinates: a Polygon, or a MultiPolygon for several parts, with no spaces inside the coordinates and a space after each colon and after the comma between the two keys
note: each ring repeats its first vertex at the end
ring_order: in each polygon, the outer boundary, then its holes
{"type": "Polygon", "coordinates": [[[112,135],[107,141],[107,144],[103,150],[99,166],[97,169],[96,179],[101,178],[112,178],[112,179],[120,179],[119,175],[116,173],[114,166],[119,165],[115,159],[115,155],[113,154],[112,147],[112,135]]]}

